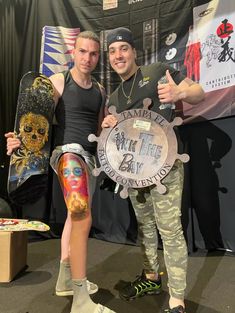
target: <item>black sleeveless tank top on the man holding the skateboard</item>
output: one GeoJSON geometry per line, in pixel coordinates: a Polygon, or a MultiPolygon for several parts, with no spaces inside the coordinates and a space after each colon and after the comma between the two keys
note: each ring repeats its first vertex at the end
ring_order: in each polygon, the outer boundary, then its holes
{"type": "Polygon", "coordinates": [[[70,71],[63,72],[64,91],[56,106],[55,146],[78,143],[95,154],[96,142],[89,142],[89,134],[97,134],[102,96],[98,83],[84,89],[73,80],[70,71]]]}

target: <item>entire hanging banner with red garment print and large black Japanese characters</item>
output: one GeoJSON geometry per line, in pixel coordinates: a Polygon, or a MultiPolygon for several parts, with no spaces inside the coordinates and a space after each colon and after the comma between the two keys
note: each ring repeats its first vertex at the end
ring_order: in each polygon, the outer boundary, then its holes
{"type": "Polygon", "coordinates": [[[184,65],[199,82],[206,99],[184,103],[186,120],[215,119],[235,114],[235,1],[213,0],[193,10],[184,65]]]}

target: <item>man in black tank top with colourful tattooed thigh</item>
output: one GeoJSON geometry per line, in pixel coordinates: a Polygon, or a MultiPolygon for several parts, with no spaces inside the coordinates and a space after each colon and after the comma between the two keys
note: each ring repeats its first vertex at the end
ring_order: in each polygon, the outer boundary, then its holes
{"type": "MultiPolygon", "coordinates": [[[[86,279],[87,242],[91,227],[91,200],[95,178],[96,144],[87,139],[99,132],[103,118],[104,89],[91,72],[99,60],[99,38],[90,31],[81,32],[73,50],[74,67],[50,77],[55,94],[55,149],[51,166],[58,175],[68,216],[61,239],[61,262],[56,294],[73,295],[71,313],[112,313],[94,303],[89,293],[97,285],[86,279]]],[[[13,133],[7,138],[7,154],[21,144],[13,133]]]]}

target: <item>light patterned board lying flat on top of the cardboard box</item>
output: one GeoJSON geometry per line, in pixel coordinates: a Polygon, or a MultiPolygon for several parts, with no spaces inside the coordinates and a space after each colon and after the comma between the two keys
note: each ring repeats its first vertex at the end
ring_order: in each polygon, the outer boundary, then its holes
{"type": "Polygon", "coordinates": [[[0,218],[0,231],[48,231],[50,227],[40,221],[29,221],[24,219],[0,218]]]}

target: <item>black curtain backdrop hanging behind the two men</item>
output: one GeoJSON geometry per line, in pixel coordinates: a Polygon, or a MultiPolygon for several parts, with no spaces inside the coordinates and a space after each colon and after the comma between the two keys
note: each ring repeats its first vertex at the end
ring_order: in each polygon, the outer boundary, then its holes
{"type": "MultiPolygon", "coordinates": [[[[136,34],[138,61],[144,63],[140,24],[158,19],[156,47],[163,58],[165,39],[170,32],[181,34],[178,59],[183,62],[187,32],[192,24],[193,7],[208,1],[143,0],[132,5],[119,0],[118,9],[103,11],[103,1],[79,0],[2,0],[0,1],[0,197],[7,198],[9,158],[5,154],[4,133],[13,130],[20,78],[39,69],[42,28],[80,27],[97,33],[127,26],[136,34]]],[[[148,45],[148,38],[145,38],[148,45]]],[[[95,75],[99,79],[98,67],[95,75]]],[[[118,82],[114,77],[112,91],[118,82]]],[[[203,121],[180,127],[191,160],[185,165],[183,223],[190,250],[194,248],[235,251],[235,149],[232,145],[235,118],[203,121]]],[[[104,186],[98,178],[93,204],[91,235],[120,243],[136,243],[136,220],[130,202],[114,194],[112,184],[104,186]],[[101,185],[101,186],[100,186],[101,185]]],[[[60,235],[66,216],[63,197],[55,175],[49,175],[48,193],[24,206],[12,204],[18,217],[40,219],[60,235]]]]}

